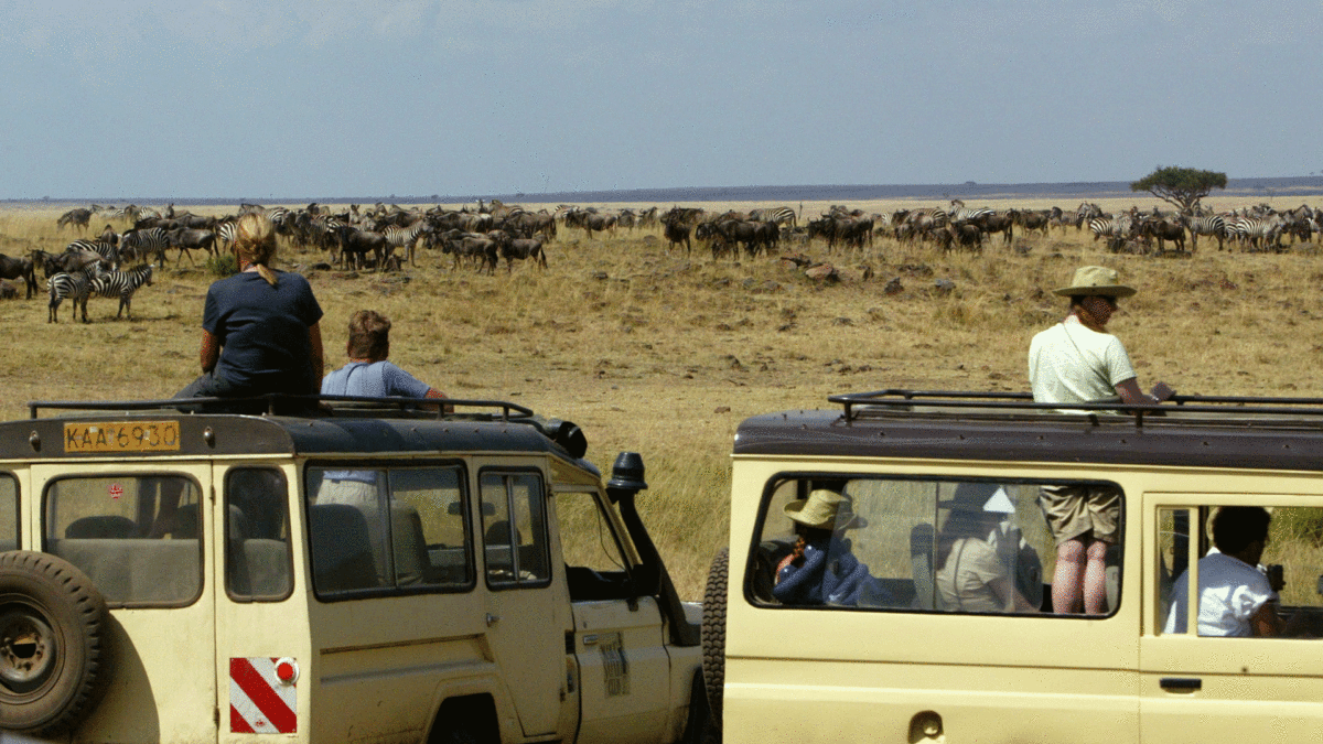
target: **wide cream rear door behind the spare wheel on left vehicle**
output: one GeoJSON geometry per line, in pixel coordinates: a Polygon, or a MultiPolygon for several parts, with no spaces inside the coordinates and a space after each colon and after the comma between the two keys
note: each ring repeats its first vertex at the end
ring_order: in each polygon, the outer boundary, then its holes
{"type": "Polygon", "coordinates": [[[41,549],[82,569],[112,617],[108,691],[83,725],[116,741],[214,741],[210,463],[33,465],[32,487],[41,549]]]}

